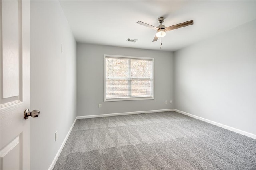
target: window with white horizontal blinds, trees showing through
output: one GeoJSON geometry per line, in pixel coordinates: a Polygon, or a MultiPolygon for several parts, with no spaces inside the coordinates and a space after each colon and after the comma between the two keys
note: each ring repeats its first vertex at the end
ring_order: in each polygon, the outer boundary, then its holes
{"type": "Polygon", "coordinates": [[[104,55],[104,102],[154,99],[154,59],[104,55]]]}

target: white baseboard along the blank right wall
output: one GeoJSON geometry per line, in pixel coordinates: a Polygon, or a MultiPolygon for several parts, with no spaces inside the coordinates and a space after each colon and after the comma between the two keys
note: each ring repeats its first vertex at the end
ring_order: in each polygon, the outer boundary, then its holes
{"type": "Polygon", "coordinates": [[[236,133],[240,133],[242,135],[245,135],[245,136],[248,136],[248,137],[251,137],[253,139],[256,139],[256,135],[252,134],[252,133],[249,133],[249,132],[246,132],[246,131],[242,131],[240,129],[236,129],[234,127],[230,127],[230,126],[227,126],[227,125],[223,125],[221,123],[217,123],[215,121],[211,121],[211,120],[208,120],[208,119],[204,119],[202,117],[199,117],[199,116],[195,116],[195,115],[192,115],[192,114],[189,114],[189,113],[186,113],[184,111],[180,111],[180,110],[177,110],[177,109],[174,109],[174,111],[178,112],[178,113],[181,113],[181,114],[184,114],[184,115],[187,115],[187,116],[190,116],[190,117],[193,117],[193,118],[196,118],[196,119],[199,119],[199,120],[202,120],[202,121],[205,121],[207,123],[210,123],[212,125],[216,125],[216,126],[219,126],[219,127],[222,127],[224,129],[228,129],[230,131],[233,131],[233,132],[236,132],[236,133]]]}

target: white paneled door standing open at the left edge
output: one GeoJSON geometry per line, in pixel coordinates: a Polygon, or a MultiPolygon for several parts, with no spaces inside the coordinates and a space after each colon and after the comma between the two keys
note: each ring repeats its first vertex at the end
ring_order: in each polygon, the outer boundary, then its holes
{"type": "Polygon", "coordinates": [[[30,2],[0,2],[1,170],[30,169],[30,2]]]}

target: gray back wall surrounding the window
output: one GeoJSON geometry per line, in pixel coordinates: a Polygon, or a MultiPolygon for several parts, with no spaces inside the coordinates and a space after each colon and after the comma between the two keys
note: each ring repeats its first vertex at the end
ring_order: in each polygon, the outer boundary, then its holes
{"type": "Polygon", "coordinates": [[[173,53],[106,45],[77,44],[78,116],[172,109],[173,53]],[[154,58],[154,100],[103,102],[103,54],[154,58]],[[98,108],[102,104],[102,108],[98,108]]]}

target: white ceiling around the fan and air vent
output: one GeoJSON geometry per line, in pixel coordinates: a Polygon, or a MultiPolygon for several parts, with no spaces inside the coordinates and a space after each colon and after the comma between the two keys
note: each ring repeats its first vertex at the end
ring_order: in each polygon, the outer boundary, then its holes
{"type": "Polygon", "coordinates": [[[255,1],[60,1],[77,42],[176,51],[248,21],[255,20],[255,1]],[[166,32],[137,24],[166,27],[189,20],[194,25],[166,32]],[[138,39],[136,43],[126,39],[138,39]]]}

